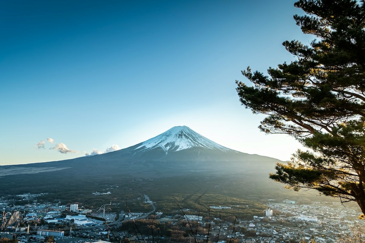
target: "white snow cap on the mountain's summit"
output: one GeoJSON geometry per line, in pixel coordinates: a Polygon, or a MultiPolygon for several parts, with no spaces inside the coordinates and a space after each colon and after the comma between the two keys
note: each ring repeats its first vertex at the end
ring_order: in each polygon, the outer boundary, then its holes
{"type": "Polygon", "coordinates": [[[187,126],[174,126],[166,132],[142,142],[142,144],[136,149],[142,148],[145,150],[161,147],[166,153],[168,153],[168,151],[178,151],[188,149],[193,146],[219,149],[223,151],[231,150],[201,136],[199,133],[194,132],[187,126]]]}

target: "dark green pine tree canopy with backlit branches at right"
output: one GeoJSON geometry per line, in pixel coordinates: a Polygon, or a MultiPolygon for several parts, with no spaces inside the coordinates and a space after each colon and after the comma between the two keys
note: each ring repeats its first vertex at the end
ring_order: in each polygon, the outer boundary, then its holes
{"type": "Polygon", "coordinates": [[[283,46],[296,57],[268,69],[268,75],[242,74],[254,85],[236,81],[241,103],[268,115],[259,128],[289,134],[308,151],[289,164],[276,165],[270,178],[288,188],[356,201],[365,213],[365,0],[299,0],[294,15],[309,45],[283,46]]]}

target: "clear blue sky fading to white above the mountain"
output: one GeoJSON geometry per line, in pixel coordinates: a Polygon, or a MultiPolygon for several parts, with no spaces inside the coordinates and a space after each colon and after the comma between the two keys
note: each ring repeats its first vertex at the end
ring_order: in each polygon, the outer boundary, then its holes
{"type": "Polygon", "coordinates": [[[289,160],[300,144],[260,132],[235,80],[294,60],[284,40],[313,39],[294,2],[1,1],[0,165],[127,148],[182,125],[289,160]]]}

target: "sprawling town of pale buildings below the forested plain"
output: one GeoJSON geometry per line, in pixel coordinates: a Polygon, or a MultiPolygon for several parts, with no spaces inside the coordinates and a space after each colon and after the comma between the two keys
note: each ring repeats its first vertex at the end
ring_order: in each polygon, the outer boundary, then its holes
{"type": "MultiPolygon", "coordinates": [[[[38,195],[17,195],[29,199],[38,195]]],[[[141,199],[140,199],[141,200],[141,199]]],[[[36,200],[35,200],[36,201],[36,200]]],[[[233,243],[293,243],[336,242],[351,235],[351,226],[361,224],[357,208],[341,203],[296,204],[285,200],[268,200],[268,208],[251,220],[225,220],[190,215],[182,209],[174,216],[155,212],[147,195],[150,212],[111,212],[111,203],[97,210],[78,204],[52,205],[33,203],[11,205],[1,198],[3,211],[0,240],[10,243],[57,242],[233,242],[233,243]],[[149,224],[143,225],[143,224],[149,224]],[[163,227],[162,227],[163,226],[163,227]],[[139,229],[136,230],[136,227],[139,229]],[[150,227],[150,230],[143,230],[150,227]],[[164,230],[155,231],[160,227],[164,230]]],[[[211,206],[230,209],[231,205],[211,206]]]]}

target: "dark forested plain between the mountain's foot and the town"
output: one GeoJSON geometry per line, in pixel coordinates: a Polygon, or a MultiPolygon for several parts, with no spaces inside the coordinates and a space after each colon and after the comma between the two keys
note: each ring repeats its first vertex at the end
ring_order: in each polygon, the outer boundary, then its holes
{"type": "Polygon", "coordinates": [[[212,217],[222,219],[231,216],[244,219],[253,215],[263,215],[268,199],[278,202],[289,199],[306,204],[324,200],[315,193],[285,190],[268,177],[258,179],[256,174],[235,172],[222,172],[221,175],[196,172],[159,179],[125,176],[99,178],[95,175],[93,178],[78,177],[79,180],[65,180],[60,172],[46,175],[48,176],[38,176],[37,180],[34,180],[33,175],[0,178],[3,182],[0,184],[0,196],[14,205],[35,202],[53,205],[76,203],[80,208],[95,210],[103,204],[111,203],[108,212],[126,213],[128,208],[131,212],[150,212],[151,205],[143,202],[143,195],[146,194],[155,202],[157,211],[170,216],[181,215],[180,207],[191,209],[191,213],[199,213],[200,210],[201,215],[208,216],[209,206],[233,205],[232,209],[211,209],[212,217]],[[111,193],[93,194],[108,191],[111,193]],[[27,200],[16,196],[23,193],[43,194],[27,200]]]}

